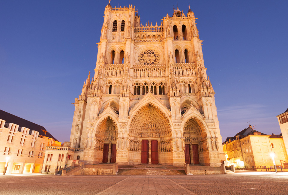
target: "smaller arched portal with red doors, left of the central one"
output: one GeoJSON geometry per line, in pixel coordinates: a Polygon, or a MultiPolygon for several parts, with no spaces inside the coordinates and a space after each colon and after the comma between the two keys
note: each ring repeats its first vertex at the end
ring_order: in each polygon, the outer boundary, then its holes
{"type": "Polygon", "coordinates": [[[94,149],[102,152],[102,163],[116,162],[117,137],[117,125],[108,116],[98,125],[94,138],[94,149]]]}

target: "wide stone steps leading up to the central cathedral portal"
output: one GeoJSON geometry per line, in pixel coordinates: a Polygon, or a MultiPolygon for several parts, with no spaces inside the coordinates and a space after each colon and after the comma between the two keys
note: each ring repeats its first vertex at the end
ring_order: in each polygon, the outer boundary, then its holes
{"type": "Polygon", "coordinates": [[[184,167],[172,165],[119,165],[117,175],[185,175],[184,167]]]}

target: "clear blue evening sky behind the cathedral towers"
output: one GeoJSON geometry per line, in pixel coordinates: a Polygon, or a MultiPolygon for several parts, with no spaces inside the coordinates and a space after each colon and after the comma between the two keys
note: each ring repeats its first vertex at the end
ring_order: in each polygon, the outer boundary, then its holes
{"type": "MultiPolygon", "coordinates": [[[[75,98],[94,75],[106,1],[0,1],[0,109],[69,141],[75,98]]],[[[251,125],[279,134],[288,107],[288,1],[128,1],[142,24],[161,23],[173,5],[194,12],[216,92],[223,139],[251,125]]],[[[222,140],[223,141],[223,140],[222,140]]]]}

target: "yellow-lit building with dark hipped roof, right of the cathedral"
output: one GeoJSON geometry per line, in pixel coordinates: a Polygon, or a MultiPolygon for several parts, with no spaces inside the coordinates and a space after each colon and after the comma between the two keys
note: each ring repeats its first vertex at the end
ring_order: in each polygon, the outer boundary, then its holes
{"type": "Polygon", "coordinates": [[[223,150],[228,163],[236,168],[256,170],[260,166],[273,166],[271,153],[277,166],[288,165],[282,134],[266,135],[253,130],[251,125],[234,137],[227,137],[223,150]]]}

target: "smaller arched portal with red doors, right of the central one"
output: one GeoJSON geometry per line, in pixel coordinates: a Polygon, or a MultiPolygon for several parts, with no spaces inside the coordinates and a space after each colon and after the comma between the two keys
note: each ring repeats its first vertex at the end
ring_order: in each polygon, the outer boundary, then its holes
{"type": "MultiPolygon", "coordinates": [[[[207,136],[197,120],[190,118],[184,125],[183,138],[185,142],[185,163],[206,165],[205,154],[208,153],[207,136]]],[[[209,154],[208,154],[209,158],[209,154]]]]}

